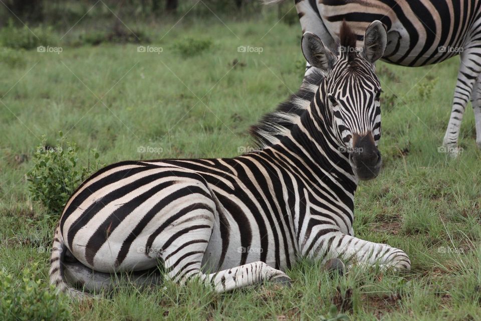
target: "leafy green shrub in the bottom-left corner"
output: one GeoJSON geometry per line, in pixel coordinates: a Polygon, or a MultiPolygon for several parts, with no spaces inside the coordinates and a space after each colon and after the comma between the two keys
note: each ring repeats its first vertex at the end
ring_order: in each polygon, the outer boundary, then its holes
{"type": "Polygon", "coordinates": [[[25,268],[22,279],[0,270],[0,319],[67,320],[70,308],[64,296],[57,296],[54,287],[42,288],[46,282],[38,276],[38,264],[25,268]]]}

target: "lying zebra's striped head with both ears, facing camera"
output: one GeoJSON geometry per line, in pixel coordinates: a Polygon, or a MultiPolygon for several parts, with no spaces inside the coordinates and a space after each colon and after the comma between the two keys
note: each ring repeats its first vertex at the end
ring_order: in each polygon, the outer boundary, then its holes
{"type": "Polygon", "coordinates": [[[356,177],[369,180],[379,174],[382,163],[377,149],[381,137],[381,86],[374,63],[386,49],[386,29],[380,21],[374,21],[366,29],[364,47],[355,45],[356,36],[345,23],[337,53],[312,33],[306,32],[302,38],[306,60],[325,74],[316,97],[320,100],[316,99],[317,112],[331,126],[339,150],[349,158],[356,177]]]}

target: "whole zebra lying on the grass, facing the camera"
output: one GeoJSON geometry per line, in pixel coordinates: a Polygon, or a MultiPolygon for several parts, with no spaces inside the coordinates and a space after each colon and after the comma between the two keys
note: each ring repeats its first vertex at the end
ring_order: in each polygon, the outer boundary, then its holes
{"type": "MultiPolygon", "coordinates": [[[[347,25],[341,32],[341,44],[354,44],[347,25]]],[[[357,184],[382,163],[374,71],[387,44],[382,23],[370,24],[365,39],[362,53],[335,54],[316,35],[303,36],[306,60],[323,73],[251,128],[259,150],[124,161],[92,175],[56,228],[51,283],[77,295],[74,283],[108,288],[104,275],[161,267],[162,280],[197,279],[223,292],[290,284],[285,271],[302,257],[409,270],[402,250],[353,235],[357,184]]]]}

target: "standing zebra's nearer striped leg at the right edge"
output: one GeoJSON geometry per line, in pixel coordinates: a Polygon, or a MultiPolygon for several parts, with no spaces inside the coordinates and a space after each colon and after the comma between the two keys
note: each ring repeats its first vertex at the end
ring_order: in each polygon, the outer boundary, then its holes
{"type": "Polygon", "coordinates": [[[443,145],[447,148],[447,152],[454,157],[459,153],[457,139],[461,127],[462,115],[464,114],[466,103],[471,97],[474,83],[481,73],[481,65],[477,63],[480,55],[481,48],[474,47],[464,49],[460,56],[461,63],[457,74],[451,117],[449,118],[443,139],[443,145]]]}

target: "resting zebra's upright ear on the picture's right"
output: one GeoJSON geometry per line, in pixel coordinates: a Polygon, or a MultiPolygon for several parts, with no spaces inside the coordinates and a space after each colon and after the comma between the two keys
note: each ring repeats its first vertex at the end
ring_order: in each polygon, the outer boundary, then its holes
{"type": "Polygon", "coordinates": [[[373,21],[364,34],[363,55],[371,63],[384,55],[387,46],[387,31],[382,22],[373,21]]]}

